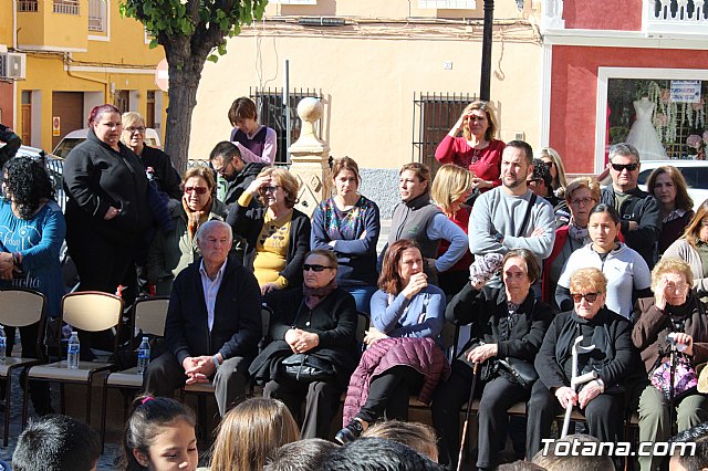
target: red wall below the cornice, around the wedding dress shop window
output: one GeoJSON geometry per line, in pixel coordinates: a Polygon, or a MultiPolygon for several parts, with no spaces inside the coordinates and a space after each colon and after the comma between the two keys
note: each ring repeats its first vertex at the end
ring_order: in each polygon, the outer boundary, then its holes
{"type": "Polygon", "coordinates": [[[708,51],[553,46],[550,145],[563,157],[565,170],[594,172],[598,67],[696,69],[699,64],[708,64],[708,51]]]}

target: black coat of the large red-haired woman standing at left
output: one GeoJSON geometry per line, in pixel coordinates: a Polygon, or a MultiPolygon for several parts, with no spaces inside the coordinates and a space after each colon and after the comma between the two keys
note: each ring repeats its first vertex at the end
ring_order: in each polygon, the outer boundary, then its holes
{"type": "Polygon", "coordinates": [[[116,151],[93,129],[64,160],[66,226],[73,231],[98,234],[115,243],[134,241],[153,223],[147,202],[147,176],[143,161],[123,143],[116,151]],[[119,214],[103,219],[108,207],[119,214]]]}

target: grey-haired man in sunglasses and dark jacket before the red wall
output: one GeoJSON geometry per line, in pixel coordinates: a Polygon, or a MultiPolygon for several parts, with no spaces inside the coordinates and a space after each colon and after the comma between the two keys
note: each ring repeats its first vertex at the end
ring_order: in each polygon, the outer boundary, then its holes
{"type": "Polygon", "coordinates": [[[657,260],[662,211],[656,198],[637,187],[639,151],[632,144],[613,145],[607,168],[612,185],[602,190],[600,202],[615,207],[626,244],[637,251],[652,269],[657,260]]]}

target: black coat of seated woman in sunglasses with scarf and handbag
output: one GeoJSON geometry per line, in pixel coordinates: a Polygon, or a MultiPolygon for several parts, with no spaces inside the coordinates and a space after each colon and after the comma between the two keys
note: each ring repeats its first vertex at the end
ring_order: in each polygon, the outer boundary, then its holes
{"type": "Polygon", "coordinates": [[[277,379],[280,360],[293,354],[284,338],[294,325],[317,334],[320,344],[310,353],[333,365],[336,383],[344,389],[358,365],[354,297],[339,287],[312,311],[303,303],[303,297],[302,289],[278,291],[269,295],[268,304],[273,310],[270,325],[272,342],[253,360],[249,373],[259,381],[277,379]]]}

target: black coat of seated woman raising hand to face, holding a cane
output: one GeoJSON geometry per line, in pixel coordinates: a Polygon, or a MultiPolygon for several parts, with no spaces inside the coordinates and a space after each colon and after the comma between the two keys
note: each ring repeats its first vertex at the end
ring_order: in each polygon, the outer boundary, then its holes
{"type": "Polygon", "coordinates": [[[533,292],[529,291],[521,303],[519,314],[506,341],[500,341],[500,324],[507,322],[507,293],[504,289],[485,286],[477,291],[467,283],[447,305],[445,317],[456,324],[470,324],[470,339],[462,348],[486,344],[497,344],[497,357],[508,356],[533,363],[539,352],[545,331],[551,324],[553,311],[542,301],[535,301],[533,292]]]}

